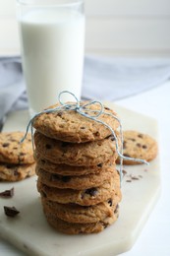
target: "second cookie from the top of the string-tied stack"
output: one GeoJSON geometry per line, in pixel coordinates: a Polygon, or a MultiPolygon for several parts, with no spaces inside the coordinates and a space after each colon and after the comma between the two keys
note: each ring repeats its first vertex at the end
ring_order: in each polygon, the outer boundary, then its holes
{"type": "MultiPolygon", "coordinates": [[[[119,135],[117,137],[119,139],[119,135]]],[[[78,144],[54,140],[36,131],[34,143],[40,158],[56,163],[89,166],[117,157],[116,143],[112,136],[78,144]]]]}

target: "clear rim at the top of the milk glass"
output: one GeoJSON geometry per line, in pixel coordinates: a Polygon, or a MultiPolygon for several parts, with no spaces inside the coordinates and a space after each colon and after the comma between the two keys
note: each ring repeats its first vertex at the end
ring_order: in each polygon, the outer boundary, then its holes
{"type": "Polygon", "coordinates": [[[65,0],[63,3],[55,3],[55,0],[45,0],[45,1],[38,1],[35,2],[34,0],[17,0],[17,3],[20,5],[26,6],[56,6],[56,7],[69,7],[69,6],[77,6],[84,3],[84,0],[65,0]]]}

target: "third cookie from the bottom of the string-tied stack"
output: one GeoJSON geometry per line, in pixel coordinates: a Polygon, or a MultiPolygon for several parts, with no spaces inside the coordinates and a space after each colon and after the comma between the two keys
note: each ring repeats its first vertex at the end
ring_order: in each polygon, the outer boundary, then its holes
{"type": "Polygon", "coordinates": [[[37,190],[41,194],[41,197],[45,197],[53,202],[90,206],[106,201],[114,196],[118,196],[121,199],[119,174],[117,174],[117,176],[117,179],[111,177],[109,180],[104,181],[99,187],[93,186],[82,190],[50,187],[41,183],[38,178],[37,190]]]}

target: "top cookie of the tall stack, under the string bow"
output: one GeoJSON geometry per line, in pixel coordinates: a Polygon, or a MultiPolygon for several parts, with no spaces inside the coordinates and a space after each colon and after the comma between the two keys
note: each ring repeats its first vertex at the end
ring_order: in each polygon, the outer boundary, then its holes
{"type": "MultiPolygon", "coordinates": [[[[87,102],[83,101],[81,105],[85,103],[87,102]]],[[[59,105],[55,104],[49,108],[59,105]]],[[[99,109],[99,104],[92,104],[86,106],[84,112],[93,116],[94,112],[89,110],[99,109]]],[[[116,115],[113,110],[106,106],[104,112],[116,115]]],[[[116,130],[119,126],[119,122],[111,115],[101,114],[97,119],[109,125],[113,130],[116,130]]],[[[38,132],[50,138],[72,143],[101,140],[111,135],[111,131],[103,124],[93,121],[75,110],[57,110],[52,113],[42,113],[34,118],[32,125],[38,132]]]]}

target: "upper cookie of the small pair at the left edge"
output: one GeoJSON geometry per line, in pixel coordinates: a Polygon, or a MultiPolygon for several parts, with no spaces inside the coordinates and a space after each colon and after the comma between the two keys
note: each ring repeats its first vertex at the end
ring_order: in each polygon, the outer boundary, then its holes
{"type": "Polygon", "coordinates": [[[30,134],[23,143],[20,143],[24,135],[23,132],[0,133],[0,162],[34,162],[30,134]]]}

